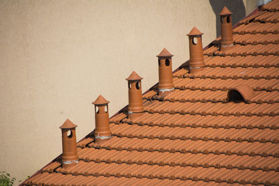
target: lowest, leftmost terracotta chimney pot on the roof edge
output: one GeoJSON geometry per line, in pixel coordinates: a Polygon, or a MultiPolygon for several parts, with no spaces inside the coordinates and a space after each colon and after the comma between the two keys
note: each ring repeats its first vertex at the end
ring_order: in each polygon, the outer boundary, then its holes
{"type": "Polygon", "coordinates": [[[68,168],[78,163],[77,141],[75,137],[75,127],[70,120],[66,120],[59,128],[62,130],[62,167],[68,168]]]}

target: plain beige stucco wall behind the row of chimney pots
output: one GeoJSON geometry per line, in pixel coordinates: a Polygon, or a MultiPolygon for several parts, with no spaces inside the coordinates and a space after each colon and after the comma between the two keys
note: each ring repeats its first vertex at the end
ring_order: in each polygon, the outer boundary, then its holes
{"type": "Polygon", "coordinates": [[[208,45],[218,33],[213,9],[224,4],[236,15],[248,10],[236,0],[2,0],[0,171],[24,180],[58,156],[66,118],[78,125],[77,140],[91,132],[99,94],[110,100],[110,116],[119,111],[133,70],[143,91],[156,84],[156,55],[166,47],[173,69],[181,65],[193,26],[208,45]]]}

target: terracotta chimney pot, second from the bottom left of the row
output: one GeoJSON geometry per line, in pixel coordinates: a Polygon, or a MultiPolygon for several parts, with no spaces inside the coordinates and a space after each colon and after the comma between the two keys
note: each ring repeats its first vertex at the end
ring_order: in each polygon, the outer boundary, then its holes
{"type": "Polygon", "coordinates": [[[110,121],[109,121],[109,101],[105,100],[102,95],[92,102],[95,105],[95,142],[102,143],[110,139],[110,121]]]}

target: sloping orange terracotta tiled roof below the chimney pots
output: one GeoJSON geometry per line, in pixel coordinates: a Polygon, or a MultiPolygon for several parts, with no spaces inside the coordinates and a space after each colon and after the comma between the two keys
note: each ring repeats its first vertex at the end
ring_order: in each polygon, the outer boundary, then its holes
{"type": "Polygon", "coordinates": [[[204,51],[204,70],[174,72],[174,91],[144,94],[144,114],[110,119],[112,139],[77,144],[80,161],[57,158],[23,185],[279,185],[279,0],[246,17],[204,51]],[[254,93],[229,102],[239,84],[254,93]]]}

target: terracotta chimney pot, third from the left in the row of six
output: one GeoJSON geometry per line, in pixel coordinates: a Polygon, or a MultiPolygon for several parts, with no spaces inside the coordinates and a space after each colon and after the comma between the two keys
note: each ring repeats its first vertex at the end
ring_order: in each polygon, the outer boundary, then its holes
{"type": "Polygon", "coordinates": [[[128,78],[128,118],[133,119],[142,115],[144,108],[142,106],[142,77],[137,75],[135,71],[128,78]]]}

